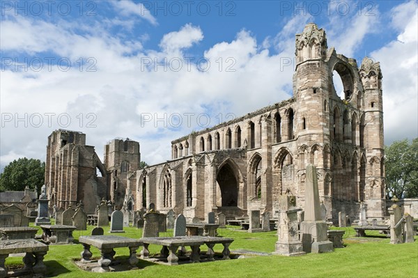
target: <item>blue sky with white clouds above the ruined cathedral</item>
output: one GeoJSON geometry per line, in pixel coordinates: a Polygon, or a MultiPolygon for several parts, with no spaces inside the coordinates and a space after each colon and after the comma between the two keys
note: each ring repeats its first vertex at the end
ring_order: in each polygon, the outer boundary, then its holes
{"type": "Polygon", "coordinates": [[[45,160],[58,128],[100,157],[129,137],[144,161],[167,160],[172,139],[290,98],[308,22],[337,53],[380,61],[385,144],[417,137],[416,1],[48,3],[1,0],[1,167],[45,160]]]}

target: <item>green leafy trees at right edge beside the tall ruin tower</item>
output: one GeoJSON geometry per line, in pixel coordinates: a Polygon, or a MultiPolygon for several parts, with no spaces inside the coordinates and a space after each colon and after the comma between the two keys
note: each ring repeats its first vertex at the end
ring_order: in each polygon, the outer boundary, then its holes
{"type": "Polygon", "coordinates": [[[385,147],[385,173],[387,199],[418,197],[418,138],[385,147]]]}

